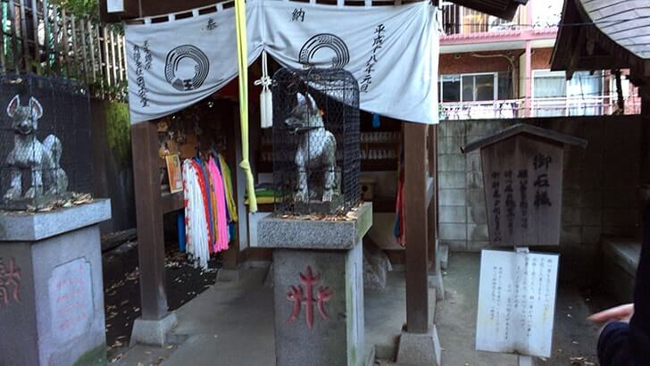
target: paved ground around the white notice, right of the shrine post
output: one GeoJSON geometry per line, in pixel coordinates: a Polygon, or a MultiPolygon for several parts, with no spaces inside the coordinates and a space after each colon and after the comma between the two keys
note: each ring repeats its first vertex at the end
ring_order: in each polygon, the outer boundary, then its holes
{"type": "MultiPolygon", "coordinates": [[[[562,261],[562,258],[560,259],[562,261]]],[[[517,357],[475,351],[479,294],[479,253],[452,253],[444,274],[446,297],[438,303],[437,329],[443,348],[443,365],[515,366],[517,357]]],[[[560,273],[562,278],[562,273],[560,273]]],[[[537,366],[588,365],[596,359],[599,327],[588,315],[610,306],[608,299],[560,282],[555,307],[553,356],[534,360],[537,366]],[[580,359],[583,357],[582,359],[580,359]],[[573,358],[573,360],[571,360],[573,358]]]]}

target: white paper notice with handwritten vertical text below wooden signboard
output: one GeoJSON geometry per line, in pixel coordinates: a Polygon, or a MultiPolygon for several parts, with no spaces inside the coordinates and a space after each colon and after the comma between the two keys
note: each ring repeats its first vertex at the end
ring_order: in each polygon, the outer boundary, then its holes
{"type": "Polygon", "coordinates": [[[484,250],[476,349],[551,356],[558,255],[484,250]]]}

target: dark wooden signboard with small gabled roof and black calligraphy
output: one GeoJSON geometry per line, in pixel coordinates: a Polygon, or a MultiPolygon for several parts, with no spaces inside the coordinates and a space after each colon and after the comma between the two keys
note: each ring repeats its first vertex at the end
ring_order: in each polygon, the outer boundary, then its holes
{"type": "Polygon", "coordinates": [[[480,148],[491,245],[559,245],[565,145],[585,140],[519,124],[462,148],[480,148]]]}

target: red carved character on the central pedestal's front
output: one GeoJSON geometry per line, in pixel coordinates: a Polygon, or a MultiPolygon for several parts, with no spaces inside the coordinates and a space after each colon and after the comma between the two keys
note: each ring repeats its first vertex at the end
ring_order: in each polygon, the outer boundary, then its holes
{"type": "Polygon", "coordinates": [[[316,304],[318,312],[323,320],[328,320],[329,315],[325,311],[325,303],[331,300],[334,292],[329,287],[319,287],[316,298],[313,298],[313,287],[321,280],[321,274],[313,275],[312,267],[307,266],[305,274],[300,273],[300,283],[304,286],[291,286],[288,288],[287,300],[293,302],[291,315],[287,319],[287,324],[293,323],[300,316],[300,309],[304,305],[307,328],[313,328],[313,305],[316,304]]]}

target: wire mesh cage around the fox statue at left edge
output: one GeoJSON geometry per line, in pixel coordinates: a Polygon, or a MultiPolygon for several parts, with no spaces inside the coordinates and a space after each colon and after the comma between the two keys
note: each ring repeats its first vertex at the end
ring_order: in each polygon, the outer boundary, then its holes
{"type": "Polygon", "coordinates": [[[90,192],[87,88],[36,75],[0,76],[0,210],[38,210],[90,192]]]}

